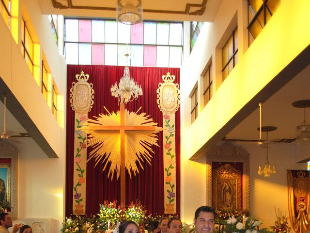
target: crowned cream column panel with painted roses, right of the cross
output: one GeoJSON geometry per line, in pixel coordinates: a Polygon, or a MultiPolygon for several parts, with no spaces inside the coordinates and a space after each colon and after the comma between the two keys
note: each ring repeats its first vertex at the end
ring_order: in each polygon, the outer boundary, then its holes
{"type": "Polygon", "coordinates": [[[176,175],[175,175],[175,112],[180,107],[179,84],[173,83],[174,75],[163,75],[164,83],[158,84],[157,104],[163,113],[163,140],[164,140],[164,196],[165,214],[176,213],[176,175]]]}

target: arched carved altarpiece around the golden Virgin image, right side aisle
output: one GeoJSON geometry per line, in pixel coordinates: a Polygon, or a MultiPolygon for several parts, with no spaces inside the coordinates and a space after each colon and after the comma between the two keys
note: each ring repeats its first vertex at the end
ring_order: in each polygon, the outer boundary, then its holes
{"type": "Polygon", "coordinates": [[[243,147],[224,143],[207,152],[206,204],[217,209],[249,210],[249,153],[243,147]],[[217,169],[213,169],[212,164],[219,166],[216,167],[217,169]],[[214,175],[212,174],[213,170],[214,175]],[[230,197],[225,196],[226,190],[230,197]],[[225,204],[223,200],[225,197],[231,198],[230,205],[225,204]]]}

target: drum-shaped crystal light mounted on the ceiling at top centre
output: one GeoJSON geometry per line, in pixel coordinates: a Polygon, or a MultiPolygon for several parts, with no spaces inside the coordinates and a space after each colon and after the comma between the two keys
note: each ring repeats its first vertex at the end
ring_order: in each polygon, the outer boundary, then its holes
{"type": "Polygon", "coordinates": [[[117,0],[117,20],[124,24],[136,24],[142,19],[141,0],[117,0]]]}

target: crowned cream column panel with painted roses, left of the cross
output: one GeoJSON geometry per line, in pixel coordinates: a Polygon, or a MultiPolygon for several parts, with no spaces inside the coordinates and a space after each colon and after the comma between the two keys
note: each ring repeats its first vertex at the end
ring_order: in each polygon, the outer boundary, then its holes
{"type": "Polygon", "coordinates": [[[80,130],[83,122],[87,121],[88,112],[93,107],[93,83],[87,83],[88,74],[76,75],[78,82],[73,82],[70,88],[70,106],[75,111],[75,137],[74,137],[74,169],[73,169],[73,213],[85,214],[86,200],[86,160],[87,133],[80,130]]]}

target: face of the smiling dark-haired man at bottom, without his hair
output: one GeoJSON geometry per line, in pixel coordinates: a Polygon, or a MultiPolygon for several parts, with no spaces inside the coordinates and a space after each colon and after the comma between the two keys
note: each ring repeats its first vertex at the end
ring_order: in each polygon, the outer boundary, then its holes
{"type": "Polygon", "coordinates": [[[194,226],[196,233],[213,233],[215,219],[212,212],[201,211],[196,218],[194,218],[194,226]]]}

